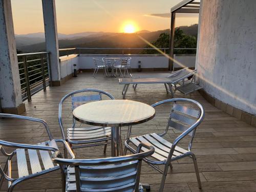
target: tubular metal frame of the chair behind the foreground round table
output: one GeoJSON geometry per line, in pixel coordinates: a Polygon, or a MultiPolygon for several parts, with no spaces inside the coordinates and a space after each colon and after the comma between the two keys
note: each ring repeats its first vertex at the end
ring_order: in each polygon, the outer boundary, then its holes
{"type": "MultiPolygon", "coordinates": [[[[72,149],[74,148],[81,148],[81,147],[89,147],[89,146],[97,146],[97,145],[104,145],[104,153],[106,151],[106,146],[107,144],[109,143],[108,141],[111,140],[111,136],[109,137],[102,137],[102,138],[97,138],[97,139],[77,139],[77,140],[73,140],[73,139],[68,139],[66,138],[66,135],[65,135],[65,131],[64,131],[64,126],[63,126],[63,123],[62,123],[62,115],[61,115],[61,112],[62,112],[62,104],[63,102],[67,99],[67,98],[70,98],[73,99],[71,102],[72,102],[72,111],[75,109],[75,102],[74,102],[74,99],[76,100],[79,100],[79,101],[83,101],[83,102],[86,102],[86,101],[97,101],[97,100],[101,100],[101,95],[104,94],[106,96],[108,96],[110,99],[115,99],[111,94],[109,94],[108,92],[105,92],[105,91],[101,91],[101,90],[96,90],[96,89],[82,89],[82,90],[78,90],[78,91],[73,91],[69,94],[67,94],[66,96],[64,96],[61,101],[59,102],[59,117],[58,117],[58,120],[59,120],[59,125],[60,125],[60,130],[61,130],[61,135],[62,135],[62,139],[63,140],[66,140],[72,149]],[[91,95],[91,96],[77,96],[75,97],[74,95],[75,94],[78,94],[78,93],[86,93],[86,92],[95,92],[97,93],[98,95],[91,95]],[[93,144],[92,144],[93,143],[93,144]],[[73,145],[77,145],[77,146],[73,146],[73,145]]],[[[74,129],[75,128],[75,123],[76,123],[76,120],[73,118],[73,125],[71,127],[71,129],[74,129]]],[[[79,127],[80,128],[80,127],[79,127]]],[[[89,127],[88,127],[89,128],[89,127]]],[[[101,129],[103,127],[99,127],[99,129],[101,129]]],[[[105,127],[104,127],[105,128],[105,127]]],[[[66,153],[65,153],[65,157],[66,157],[66,153]]]]}

